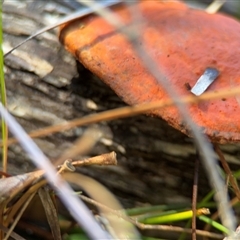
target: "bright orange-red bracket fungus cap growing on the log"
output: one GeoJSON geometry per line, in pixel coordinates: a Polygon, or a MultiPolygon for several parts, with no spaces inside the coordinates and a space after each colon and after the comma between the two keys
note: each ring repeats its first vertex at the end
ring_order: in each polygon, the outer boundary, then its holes
{"type": "MultiPolygon", "coordinates": [[[[127,25],[131,13],[115,7],[127,25]]],[[[180,2],[141,1],[144,21],[137,27],[139,39],[180,96],[192,93],[206,68],[219,77],[207,91],[220,91],[240,84],[240,24],[221,14],[208,14],[180,2]]],[[[104,19],[90,15],[62,26],[60,41],[86,68],[99,76],[130,105],[167,99],[164,88],[144,67],[127,39],[104,19]]],[[[240,99],[209,100],[189,106],[194,122],[215,142],[240,140],[240,99]]],[[[152,112],[188,134],[176,107],[152,112]]]]}

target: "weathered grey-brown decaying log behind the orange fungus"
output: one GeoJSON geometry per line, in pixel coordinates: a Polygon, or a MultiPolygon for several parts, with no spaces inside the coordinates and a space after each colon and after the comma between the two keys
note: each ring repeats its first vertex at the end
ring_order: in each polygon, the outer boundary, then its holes
{"type": "MultiPolygon", "coordinates": [[[[54,16],[71,11],[54,1],[17,4],[18,1],[4,3],[5,50],[48,24],[54,16]]],[[[124,105],[66,53],[58,42],[57,30],[31,40],[9,55],[5,59],[5,74],[9,110],[27,131],[124,105]]],[[[82,173],[109,187],[125,206],[190,202],[196,157],[191,139],[151,116],[119,119],[99,126],[106,136],[90,155],[115,151],[118,166],[84,167],[80,169],[82,173]]],[[[47,156],[56,159],[83,130],[73,129],[36,142],[47,156]]],[[[233,167],[239,165],[239,146],[222,146],[233,167]]],[[[19,145],[9,147],[9,162],[12,174],[34,168],[19,145]]],[[[209,190],[203,169],[199,184],[202,196],[209,190]]]]}

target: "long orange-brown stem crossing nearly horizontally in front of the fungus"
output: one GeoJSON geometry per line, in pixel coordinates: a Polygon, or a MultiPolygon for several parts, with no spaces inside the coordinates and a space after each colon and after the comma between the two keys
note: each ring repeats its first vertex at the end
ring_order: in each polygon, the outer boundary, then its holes
{"type": "MultiPolygon", "coordinates": [[[[219,99],[222,97],[235,96],[239,94],[240,94],[240,87],[236,87],[233,89],[227,88],[217,93],[207,92],[198,97],[196,96],[181,97],[178,99],[178,101],[185,104],[190,104],[190,103],[198,103],[198,102],[212,100],[212,99],[219,99]]],[[[119,119],[119,118],[127,118],[127,117],[135,116],[141,113],[146,113],[154,109],[169,107],[174,104],[175,102],[172,99],[168,99],[164,101],[156,101],[151,103],[137,104],[134,106],[121,107],[121,108],[108,110],[108,111],[104,111],[97,114],[90,114],[80,119],[74,119],[68,122],[59,123],[53,126],[35,130],[33,132],[28,133],[28,135],[32,138],[44,137],[44,136],[47,136],[48,134],[66,131],[76,126],[83,126],[87,124],[97,123],[100,121],[110,121],[110,120],[119,119]]],[[[9,145],[16,142],[18,142],[18,140],[14,138],[10,138],[8,140],[9,145]]],[[[0,146],[2,146],[2,143],[0,143],[0,146]]]]}

